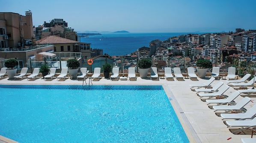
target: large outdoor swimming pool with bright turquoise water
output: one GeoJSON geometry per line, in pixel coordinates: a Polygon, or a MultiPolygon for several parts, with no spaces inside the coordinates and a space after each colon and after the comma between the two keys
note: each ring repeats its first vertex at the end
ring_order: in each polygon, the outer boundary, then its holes
{"type": "Polygon", "coordinates": [[[0,85],[0,112],[21,143],[189,143],[162,86],[0,85]]]}

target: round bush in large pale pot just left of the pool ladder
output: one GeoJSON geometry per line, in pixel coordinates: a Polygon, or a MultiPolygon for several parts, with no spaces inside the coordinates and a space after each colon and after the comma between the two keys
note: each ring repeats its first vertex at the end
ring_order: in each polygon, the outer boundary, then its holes
{"type": "Polygon", "coordinates": [[[80,63],[77,59],[67,60],[68,73],[71,79],[77,78],[77,72],[78,72],[79,66],[80,66],[80,63]]]}

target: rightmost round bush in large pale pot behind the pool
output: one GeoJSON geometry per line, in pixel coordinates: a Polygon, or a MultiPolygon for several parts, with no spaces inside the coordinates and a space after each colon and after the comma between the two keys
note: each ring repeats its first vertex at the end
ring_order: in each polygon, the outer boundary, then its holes
{"type": "Polygon", "coordinates": [[[199,78],[205,78],[207,69],[212,67],[212,63],[210,60],[199,59],[196,61],[196,66],[197,76],[199,78]]]}

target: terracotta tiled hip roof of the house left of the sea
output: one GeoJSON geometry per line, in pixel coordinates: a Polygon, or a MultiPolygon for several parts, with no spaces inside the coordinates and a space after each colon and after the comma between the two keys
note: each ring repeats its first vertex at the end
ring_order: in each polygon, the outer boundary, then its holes
{"type": "Polygon", "coordinates": [[[67,38],[55,36],[55,35],[50,35],[47,37],[44,37],[40,40],[36,41],[36,44],[62,44],[62,43],[79,43],[78,41],[75,40],[70,40],[67,38]]]}

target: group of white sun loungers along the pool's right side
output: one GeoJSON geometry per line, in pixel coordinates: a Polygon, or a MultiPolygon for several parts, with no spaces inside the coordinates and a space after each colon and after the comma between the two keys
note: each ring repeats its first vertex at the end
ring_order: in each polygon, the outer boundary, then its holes
{"type": "MultiPolygon", "coordinates": [[[[239,95],[241,95],[241,93],[247,93],[247,95],[248,92],[249,94],[256,93],[256,89],[236,90],[228,96],[224,93],[229,89],[230,86],[252,86],[255,82],[255,77],[247,82],[249,77],[251,77],[251,74],[246,74],[240,80],[227,80],[227,85],[223,85],[223,82],[218,82],[211,89],[202,87],[211,86],[211,83],[213,83],[215,79],[213,77],[211,77],[205,83],[191,84],[190,86],[191,90],[195,91],[200,98],[208,97],[208,99],[202,101],[205,101],[208,106],[213,105],[209,107],[214,109],[214,113],[219,114],[219,116],[222,117],[222,120],[225,120],[224,123],[227,125],[227,127],[237,129],[232,131],[232,133],[235,134],[244,129],[252,129],[253,127],[256,127],[256,104],[247,110],[244,107],[251,101],[250,97],[245,96],[237,103],[234,101],[239,95]],[[229,85],[229,83],[231,84],[229,85]],[[213,97],[216,96],[222,96],[222,99],[213,99],[213,97]],[[241,113],[232,113],[233,111],[237,110],[240,110],[241,113]]],[[[229,79],[232,79],[232,77],[229,79]]],[[[241,140],[243,143],[256,142],[256,139],[254,138],[242,138],[241,140]]]]}

